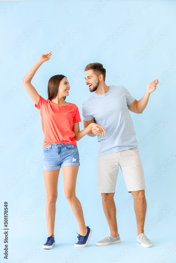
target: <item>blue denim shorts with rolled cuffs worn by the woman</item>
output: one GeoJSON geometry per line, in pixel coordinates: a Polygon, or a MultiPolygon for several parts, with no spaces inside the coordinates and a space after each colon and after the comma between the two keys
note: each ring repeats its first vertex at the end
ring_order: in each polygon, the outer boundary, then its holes
{"type": "Polygon", "coordinates": [[[51,143],[43,148],[42,169],[54,171],[62,166],[79,166],[79,153],[77,145],[51,143]]]}

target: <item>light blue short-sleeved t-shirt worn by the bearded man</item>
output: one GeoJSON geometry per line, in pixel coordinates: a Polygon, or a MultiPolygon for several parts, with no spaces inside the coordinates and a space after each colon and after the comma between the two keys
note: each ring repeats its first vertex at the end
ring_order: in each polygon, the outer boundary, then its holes
{"type": "Polygon", "coordinates": [[[136,132],[128,109],[135,98],[122,85],[109,86],[105,94],[92,93],[83,102],[84,120],[95,119],[105,129],[106,135],[97,135],[98,155],[136,148],[136,132]]]}

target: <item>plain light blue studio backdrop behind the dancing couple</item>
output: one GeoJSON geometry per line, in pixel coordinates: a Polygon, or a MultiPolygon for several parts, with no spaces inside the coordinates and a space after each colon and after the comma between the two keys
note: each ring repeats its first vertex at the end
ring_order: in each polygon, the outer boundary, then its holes
{"type": "Polygon", "coordinates": [[[0,2],[1,262],[6,262],[3,259],[4,201],[8,202],[9,208],[8,262],[175,262],[176,159],[173,156],[176,152],[176,1],[106,0],[101,8],[97,7],[99,3],[102,3],[102,0],[0,2]],[[37,23],[39,18],[44,20],[32,30],[32,25],[37,23]],[[127,20],[131,21],[130,25],[123,32],[117,31],[127,20]],[[68,36],[72,29],[77,32],[64,42],[64,37],[68,36]],[[27,31],[30,34],[15,47],[14,43],[27,31]],[[158,37],[160,31],[163,36],[158,37]],[[118,37],[110,43],[110,37],[114,34],[118,37]],[[110,44],[103,48],[106,41],[110,44]],[[82,102],[90,95],[84,83],[84,64],[103,63],[107,70],[106,84],[112,85],[113,82],[114,85],[124,85],[137,100],[142,98],[149,82],[155,78],[159,80],[144,112],[131,113],[136,139],[141,145],[138,149],[145,173],[148,204],[145,233],[153,242],[150,249],[142,247],[136,240],[137,227],[132,195],[127,193],[120,170],[115,203],[121,243],[106,247],[95,245],[98,240],[108,235],[110,230],[102,209],[101,194],[96,191],[98,142],[96,137],[89,136],[78,141],[82,161],[76,193],[83,206],[86,225],[93,230],[91,242],[82,250],[74,247],[79,228],[64,196],[61,170],[55,219],[55,227],[60,225],[60,229],[55,231],[54,248],[42,249],[48,236],[46,198],[43,198],[45,186],[41,169],[44,136],[39,110],[34,107],[22,79],[42,53],[54,50],[60,42],[63,42],[63,46],[59,50],[55,49],[51,59],[41,65],[31,83],[38,93],[47,99],[49,78],[55,74],[66,75],[71,86],[67,101],[75,103],[79,108],[82,119],[80,129],[83,129],[82,102]],[[148,45],[150,48],[147,51],[148,45]],[[136,59],[141,52],[141,58],[136,59]],[[118,74],[122,75],[120,79],[118,74]],[[71,81],[72,77],[75,79],[71,81]],[[32,120],[31,123],[18,134],[17,130],[29,119],[32,120]],[[162,124],[163,119],[165,123],[162,124]],[[149,136],[152,132],[153,136],[149,136]],[[37,161],[30,165],[32,159],[37,161]],[[170,160],[170,163],[167,160],[170,160]],[[27,171],[23,170],[25,166],[28,167],[27,171]],[[165,169],[161,169],[163,166],[165,169]],[[22,171],[20,178],[18,175],[22,171]],[[155,179],[151,181],[153,176],[155,179]],[[14,179],[16,182],[9,186],[14,179]],[[40,200],[40,203],[37,203],[37,200],[40,200]],[[128,204],[126,207],[125,202],[128,204]],[[165,209],[165,206],[168,206],[168,209],[165,209]],[[35,209],[30,210],[31,207],[35,209]],[[32,212],[20,221],[28,209],[32,212]],[[122,209],[121,213],[118,212],[119,209],[122,209]],[[68,221],[61,221],[66,217],[68,221]],[[154,219],[156,223],[152,225],[154,219]],[[35,246],[38,248],[35,249],[35,246]],[[168,250],[170,247],[173,251],[168,250]],[[126,252],[121,257],[123,249],[126,252]],[[76,256],[77,252],[80,254],[76,256]],[[168,255],[166,259],[163,257],[165,253],[168,255]]]}

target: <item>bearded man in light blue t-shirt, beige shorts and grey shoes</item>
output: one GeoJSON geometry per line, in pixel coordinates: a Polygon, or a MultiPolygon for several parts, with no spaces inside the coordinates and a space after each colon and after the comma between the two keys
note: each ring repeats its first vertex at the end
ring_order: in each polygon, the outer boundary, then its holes
{"type": "Polygon", "coordinates": [[[147,85],[144,96],[137,101],[122,85],[107,86],[105,76],[106,69],[101,63],[90,63],[85,67],[85,83],[93,93],[82,105],[84,128],[95,122],[101,124],[106,131],[105,136],[102,130],[94,128],[88,133],[89,136],[98,135],[97,192],[102,195],[103,210],[111,230],[111,234],[98,241],[96,245],[105,246],[120,242],[113,199],[120,166],[127,191],[134,197],[137,241],[144,247],[151,247],[151,241],[144,234],[146,214],[144,172],[129,110],[135,113],[143,112],[150,93],[156,89],[158,79],[147,85]]]}

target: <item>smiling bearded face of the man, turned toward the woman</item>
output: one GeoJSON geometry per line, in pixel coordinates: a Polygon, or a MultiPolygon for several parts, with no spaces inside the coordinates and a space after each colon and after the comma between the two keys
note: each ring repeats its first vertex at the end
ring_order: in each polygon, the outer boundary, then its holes
{"type": "Polygon", "coordinates": [[[85,72],[85,84],[88,85],[90,92],[96,91],[99,86],[99,79],[92,69],[85,72]]]}

